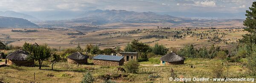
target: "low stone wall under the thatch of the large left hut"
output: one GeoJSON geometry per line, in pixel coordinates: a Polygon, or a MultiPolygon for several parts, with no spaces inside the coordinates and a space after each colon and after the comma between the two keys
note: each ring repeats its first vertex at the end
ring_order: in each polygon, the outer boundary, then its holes
{"type": "Polygon", "coordinates": [[[7,65],[17,65],[17,66],[35,66],[35,61],[16,61],[16,60],[8,60],[7,65]]]}

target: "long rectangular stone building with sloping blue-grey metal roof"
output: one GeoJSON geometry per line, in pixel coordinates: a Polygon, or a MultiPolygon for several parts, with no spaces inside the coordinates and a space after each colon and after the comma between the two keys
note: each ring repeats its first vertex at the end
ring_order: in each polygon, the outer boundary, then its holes
{"type": "Polygon", "coordinates": [[[97,55],[93,57],[93,63],[102,66],[122,66],[124,61],[123,56],[97,55]]]}

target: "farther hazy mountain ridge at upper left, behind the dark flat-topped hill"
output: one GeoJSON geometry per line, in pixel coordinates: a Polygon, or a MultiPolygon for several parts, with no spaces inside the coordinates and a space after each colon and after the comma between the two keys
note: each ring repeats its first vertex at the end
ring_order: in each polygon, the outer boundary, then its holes
{"type": "Polygon", "coordinates": [[[28,14],[22,14],[22,13],[18,13],[18,12],[15,12],[15,11],[0,11],[0,16],[3,16],[3,17],[17,17],[17,18],[23,18],[23,19],[26,19],[26,20],[39,20],[38,18],[36,17],[33,17],[31,15],[28,15],[28,14]]]}

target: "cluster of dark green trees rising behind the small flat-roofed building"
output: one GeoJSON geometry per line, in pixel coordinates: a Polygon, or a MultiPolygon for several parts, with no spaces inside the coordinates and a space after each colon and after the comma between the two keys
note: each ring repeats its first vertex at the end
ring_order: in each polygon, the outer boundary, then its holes
{"type": "Polygon", "coordinates": [[[147,58],[148,53],[154,53],[157,55],[165,55],[168,52],[168,49],[156,43],[154,47],[149,46],[148,44],[139,42],[139,40],[133,40],[131,43],[127,43],[124,49],[125,52],[138,52],[141,58],[147,58]]]}

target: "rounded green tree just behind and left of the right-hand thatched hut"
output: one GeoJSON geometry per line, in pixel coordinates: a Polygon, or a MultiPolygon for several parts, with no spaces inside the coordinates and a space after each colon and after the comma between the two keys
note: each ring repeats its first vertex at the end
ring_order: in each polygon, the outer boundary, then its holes
{"type": "Polygon", "coordinates": [[[165,46],[159,45],[158,43],[156,43],[152,48],[152,52],[154,52],[154,54],[165,55],[167,51],[168,49],[165,46]]]}

